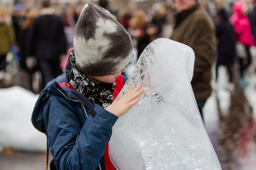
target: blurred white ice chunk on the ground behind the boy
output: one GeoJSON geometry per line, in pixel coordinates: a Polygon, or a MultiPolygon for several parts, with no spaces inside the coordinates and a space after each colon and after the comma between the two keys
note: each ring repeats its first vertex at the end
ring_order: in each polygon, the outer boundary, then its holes
{"type": "Polygon", "coordinates": [[[46,152],[46,135],[34,128],[31,115],[38,99],[20,86],[0,89],[0,146],[46,152]]]}

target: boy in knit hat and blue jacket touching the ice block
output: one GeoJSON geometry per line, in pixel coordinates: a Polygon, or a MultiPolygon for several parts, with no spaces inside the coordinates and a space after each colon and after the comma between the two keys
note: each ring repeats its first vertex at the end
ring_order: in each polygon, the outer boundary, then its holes
{"type": "Polygon", "coordinates": [[[32,114],[33,125],[47,134],[51,169],[113,169],[104,158],[112,126],[143,92],[142,84],[132,86],[112,103],[115,85],[124,85],[121,72],[132,58],[125,29],[107,10],[85,4],[66,73],[46,85],[32,114]]]}

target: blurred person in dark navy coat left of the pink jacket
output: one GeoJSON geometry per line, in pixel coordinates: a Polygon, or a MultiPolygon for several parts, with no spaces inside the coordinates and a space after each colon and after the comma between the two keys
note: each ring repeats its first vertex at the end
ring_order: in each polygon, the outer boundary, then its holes
{"type": "Polygon", "coordinates": [[[219,66],[226,66],[229,76],[229,84],[226,87],[228,90],[232,91],[234,89],[234,84],[232,83],[233,79],[231,70],[236,56],[235,31],[232,24],[228,21],[228,14],[224,8],[218,10],[217,12],[215,28],[218,39],[215,81],[218,81],[219,66]]]}

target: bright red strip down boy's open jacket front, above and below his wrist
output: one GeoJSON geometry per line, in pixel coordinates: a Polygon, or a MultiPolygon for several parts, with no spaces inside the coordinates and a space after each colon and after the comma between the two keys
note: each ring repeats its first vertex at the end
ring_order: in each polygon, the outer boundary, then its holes
{"type": "MultiPolygon", "coordinates": [[[[118,76],[118,78],[116,78],[115,82],[116,82],[116,87],[115,87],[114,93],[113,93],[113,101],[116,99],[116,96],[119,94],[119,92],[124,87],[124,80],[121,75],[118,76]]],[[[105,160],[106,170],[115,170],[113,167],[113,164],[109,158],[109,155],[108,155],[108,143],[106,145],[106,149],[105,149],[105,153],[104,153],[104,160],[105,160]]]]}

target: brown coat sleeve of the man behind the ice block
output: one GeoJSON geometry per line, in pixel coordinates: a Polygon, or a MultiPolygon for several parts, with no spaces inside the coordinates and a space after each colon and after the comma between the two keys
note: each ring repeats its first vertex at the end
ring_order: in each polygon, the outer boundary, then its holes
{"type": "Polygon", "coordinates": [[[201,78],[204,71],[212,67],[216,53],[214,27],[205,19],[198,20],[195,25],[188,45],[195,52],[194,74],[191,83],[201,78]]]}

